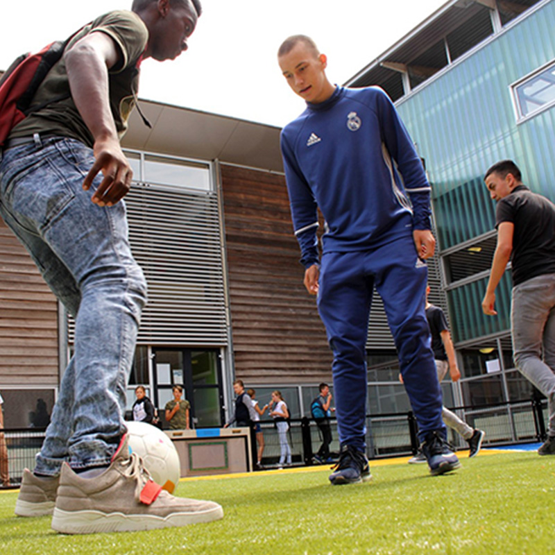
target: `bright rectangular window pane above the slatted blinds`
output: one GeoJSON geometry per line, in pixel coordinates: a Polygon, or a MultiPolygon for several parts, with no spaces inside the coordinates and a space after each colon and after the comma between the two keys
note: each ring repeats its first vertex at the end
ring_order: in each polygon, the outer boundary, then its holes
{"type": "Polygon", "coordinates": [[[176,185],[210,191],[210,171],[207,164],[194,164],[171,158],[145,156],[143,180],[157,185],[176,185]]]}

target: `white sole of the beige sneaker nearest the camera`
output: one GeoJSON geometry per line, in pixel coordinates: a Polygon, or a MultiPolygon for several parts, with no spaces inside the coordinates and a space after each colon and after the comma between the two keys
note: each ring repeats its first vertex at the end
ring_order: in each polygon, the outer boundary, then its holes
{"type": "Polygon", "coordinates": [[[148,514],[62,511],[56,508],[52,518],[52,529],[61,533],[133,532],[200,524],[221,518],[223,518],[223,509],[219,505],[210,511],[172,513],[165,518],[148,514]]]}

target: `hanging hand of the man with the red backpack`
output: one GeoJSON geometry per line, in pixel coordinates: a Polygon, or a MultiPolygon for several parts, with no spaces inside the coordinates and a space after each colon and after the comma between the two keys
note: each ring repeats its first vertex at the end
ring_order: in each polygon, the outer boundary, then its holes
{"type": "Polygon", "coordinates": [[[96,139],[94,157],[96,162],[83,181],[83,189],[87,191],[101,171],[103,180],[91,200],[99,206],[113,206],[128,194],[133,170],[123,154],[117,138],[96,139]]]}

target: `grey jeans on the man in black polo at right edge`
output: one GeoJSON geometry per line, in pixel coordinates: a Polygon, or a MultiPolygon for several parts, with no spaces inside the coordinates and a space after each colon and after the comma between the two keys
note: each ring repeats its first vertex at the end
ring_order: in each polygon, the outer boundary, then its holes
{"type": "Polygon", "coordinates": [[[511,327],[515,364],[547,397],[555,437],[555,273],[513,287],[511,327]]]}

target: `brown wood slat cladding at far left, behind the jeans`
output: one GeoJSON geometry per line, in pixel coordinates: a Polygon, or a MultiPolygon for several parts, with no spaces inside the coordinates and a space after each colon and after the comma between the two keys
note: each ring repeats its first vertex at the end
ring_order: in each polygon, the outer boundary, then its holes
{"type": "Polygon", "coordinates": [[[0,384],[58,386],[58,302],[1,218],[0,384]]]}

